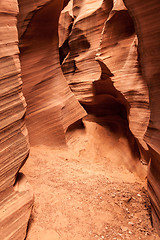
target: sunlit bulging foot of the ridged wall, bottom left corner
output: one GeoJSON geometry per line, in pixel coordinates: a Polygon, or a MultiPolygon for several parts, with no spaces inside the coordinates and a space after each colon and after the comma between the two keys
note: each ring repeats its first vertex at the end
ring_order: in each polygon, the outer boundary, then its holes
{"type": "Polygon", "coordinates": [[[25,239],[32,205],[31,186],[20,174],[14,187],[0,192],[0,239],[25,239]]]}

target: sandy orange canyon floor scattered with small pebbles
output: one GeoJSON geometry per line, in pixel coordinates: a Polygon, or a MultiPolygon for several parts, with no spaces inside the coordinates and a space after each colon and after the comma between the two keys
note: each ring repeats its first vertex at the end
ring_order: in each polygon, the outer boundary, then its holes
{"type": "Polygon", "coordinates": [[[67,146],[31,147],[22,168],[34,191],[27,240],[158,240],[146,166],[127,139],[95,122],[67,133],[67,146]]]}

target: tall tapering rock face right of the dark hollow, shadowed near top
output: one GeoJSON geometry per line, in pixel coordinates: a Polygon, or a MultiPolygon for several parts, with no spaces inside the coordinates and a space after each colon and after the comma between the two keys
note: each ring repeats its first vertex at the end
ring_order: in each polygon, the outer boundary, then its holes
{"type": "Polygon", "coordinates": [[[143,136],[149,121],[149,98],[138,62],[137,46],[133,20],[123,3],[116,1],[104,24],[98,55],[113,73],[114,86],[130,104],[130,129],[147,149],[143,136]]]}

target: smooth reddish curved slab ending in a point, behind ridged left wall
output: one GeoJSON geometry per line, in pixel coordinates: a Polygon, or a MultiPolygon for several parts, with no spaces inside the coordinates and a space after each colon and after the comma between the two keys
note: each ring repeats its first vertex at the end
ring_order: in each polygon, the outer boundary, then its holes
{"type": "Polygon", "coordinates": [[[85,116],[59,63],[58,19],[66,3],[19,0],[20,61],[32,145],[65,143],[67,127],[85,116]]]}

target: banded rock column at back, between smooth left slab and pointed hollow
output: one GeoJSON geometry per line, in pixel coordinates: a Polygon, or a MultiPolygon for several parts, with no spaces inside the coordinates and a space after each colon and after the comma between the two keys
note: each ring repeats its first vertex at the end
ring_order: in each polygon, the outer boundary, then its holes
{"type": "Polygon", "coordinates": [[[73,1],[74,22],[68,41],[70,53],[62,68],[78,100],[93,96],[92,83],[101,75],[95,56],[111,8],[112,1],[73,1]]]}

